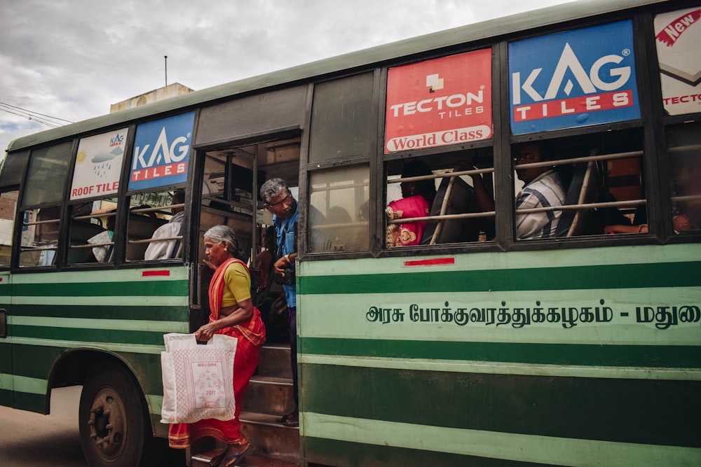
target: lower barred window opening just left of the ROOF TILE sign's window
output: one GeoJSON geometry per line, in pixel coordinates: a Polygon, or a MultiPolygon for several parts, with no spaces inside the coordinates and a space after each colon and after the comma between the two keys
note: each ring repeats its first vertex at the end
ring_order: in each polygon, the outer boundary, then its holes
{"type": "Polygon", "coordinates": [[[28,209],[22,213],[20,267],[55,264],[60,215],[60,206],[28,209]]]}

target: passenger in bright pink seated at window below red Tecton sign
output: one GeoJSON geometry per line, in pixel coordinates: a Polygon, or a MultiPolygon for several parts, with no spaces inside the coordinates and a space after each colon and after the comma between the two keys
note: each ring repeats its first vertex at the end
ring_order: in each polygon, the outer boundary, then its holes
{"type": "MultiPolygon", "coordinates": [[[[402,168],[402,179],[431,175],[426,162],[414,160],[402,168]]],[[[407,181],[400,183],[402,199],[390,202],[385,213],[388,221],[428,216],[436,195],[435,180],[407,181]]],[[[409,246],[421,244],[421,235],[426,221],[415,221],[387,225],[387,246],[409,246]]]]}

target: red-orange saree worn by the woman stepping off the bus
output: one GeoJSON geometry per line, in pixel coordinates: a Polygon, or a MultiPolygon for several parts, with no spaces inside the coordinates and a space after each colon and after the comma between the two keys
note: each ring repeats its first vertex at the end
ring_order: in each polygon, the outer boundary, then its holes
{"type": "MultiPolygon", "coordinates": [[[[224,272],[233,263],[243,261],[231,258],[217,267],[210,282],[210,323],[219,319],[224,293],[224,272]]],[[[241,412],[243,398],[248,387],[248,381],[258,366],[259,347],[265,342],[265,326],[260,312],[253,309],[253,316],[248,321],[231,328],[217,330],[217,334],[238,337],[236,356],[233,360],[233,394],[236,399],[236,415],[232,420],[205,419],[193,424],[171,424],[168,431],[170,447],[184,449],[205,436],[222,440],[227,444],[243,444],[245,438],[240,432],[238,415],[241,412]]]]}

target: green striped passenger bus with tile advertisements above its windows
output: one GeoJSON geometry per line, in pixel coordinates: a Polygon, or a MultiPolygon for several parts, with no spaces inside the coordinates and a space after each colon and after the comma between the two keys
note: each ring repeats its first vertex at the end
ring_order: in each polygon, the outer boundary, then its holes
{"type": "Polygon", "coordinates": [[[701,466],[699,22],[576,1],[11,142],[0,403],[83,386],[90,466],[154,465],[163,335],[209,314],[203,232],[254,267],[280,177],[300,426],[261,358],[258,465],[701,466]]]}

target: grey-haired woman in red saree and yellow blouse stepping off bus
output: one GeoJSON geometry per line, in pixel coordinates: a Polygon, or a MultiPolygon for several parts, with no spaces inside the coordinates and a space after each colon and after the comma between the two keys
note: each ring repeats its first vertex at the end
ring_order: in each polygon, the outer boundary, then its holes
{"type": "Polygon", "coordinates": [[[226,449],[212,458],[210,466],[236,466],[250,448],[241,435],[238,416],[248,382],[258,365],[259,349],[265,342],[265,326],[251,299],[251,278],[240,258],[236,234],[226,225],[215,225],[205,232],[205,264],[215,270],[210,282],[210,319],[195,333],[207,341],[215,334],[238,337],[233,363],[233,391],[236,414],[232,420],[200,420],[193,424],[172,424],[170,447],[186,448],[198,438],[211,437],[226,442],[226,449]]]}

